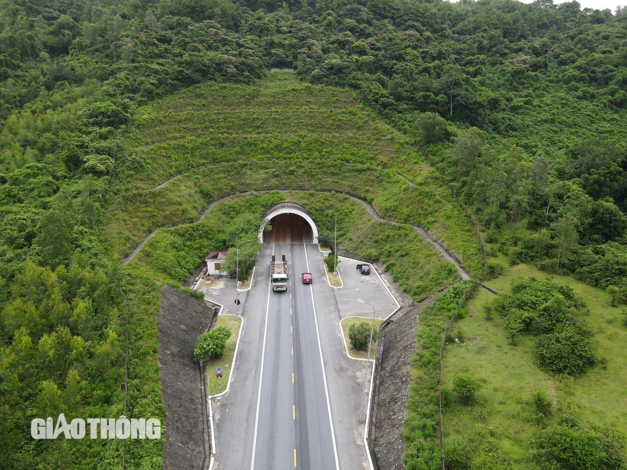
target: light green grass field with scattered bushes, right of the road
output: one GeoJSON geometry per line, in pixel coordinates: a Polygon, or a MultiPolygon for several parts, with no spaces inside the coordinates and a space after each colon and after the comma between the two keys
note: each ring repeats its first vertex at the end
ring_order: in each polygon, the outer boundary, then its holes
{"type": "MultiPolygon", "coordinates": [[[[502,276],[487,285],[502,293],[510,289],[515,276],[547,277],[533,266],[519,264],[505,268],[502,276]]],[[[571,276],[551,276],[554,281],[572,286],[582,296],[586,307],[580,312],[594,332],[593,349],[597,357],[606,357],[606,368],[596,365],[574,380],[574,395],[582,426],[609,426],[627,434],[627,328],[621,325],[621,309],[609,305],[609,296],[571,276]]],[[[443,364],[443,385],[452,387],[457,373],[472,373],[485,385],[472,406],[455,403],[445,409],[445,441],[469,441],[473,447],[498,449],[512,460],[515,469],[535,468],[529,462],[530,440],[538,427],[529,420],[527,404],[530,392],[544,390],[554,402],[560,399],[554,375],[537,367],[533,355],[535,338],[523,335],[511,345],[505,335],[503,320],[493,314],[486,320],[482,305],[494,296],[478,289],[466,304],[468,315],[456,323],[455,337],[461,330],[465,345],[450,343],[443,364]]],[[[554,405],[554,409],[556,405],[554,405]]],[[[550,420],[557,422],[559,413],[550,420]]]]}

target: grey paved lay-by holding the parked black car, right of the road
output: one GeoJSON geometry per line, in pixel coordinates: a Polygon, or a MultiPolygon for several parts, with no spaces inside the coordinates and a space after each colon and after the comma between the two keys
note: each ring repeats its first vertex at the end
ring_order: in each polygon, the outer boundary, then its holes
{"type": "Polygon", "coordinates": [[[357,261],[343,256],[339,259],[340,263],[337,267],[344,287],[334,289],[334,291],[342,318],[372,316],[372,308],[367,304],[357,302],[357,299],[371,303],[376,311],[376,318],[386,318],[396,310],[398,306],[396,301],[387,292],[382,279],[379,279],[372,265],[370,274],[361,274],[357,269],[357,261]]]}

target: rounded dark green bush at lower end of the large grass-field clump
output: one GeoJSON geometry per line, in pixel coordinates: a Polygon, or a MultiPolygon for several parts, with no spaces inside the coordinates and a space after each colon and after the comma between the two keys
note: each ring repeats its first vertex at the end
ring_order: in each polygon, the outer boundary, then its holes
{"type": "Polygon", "coordinates": [[[540,367],[553,373],[582,373],[596,362],[590,340],[572,327],[538,338],[534,353],[540,367]]]}

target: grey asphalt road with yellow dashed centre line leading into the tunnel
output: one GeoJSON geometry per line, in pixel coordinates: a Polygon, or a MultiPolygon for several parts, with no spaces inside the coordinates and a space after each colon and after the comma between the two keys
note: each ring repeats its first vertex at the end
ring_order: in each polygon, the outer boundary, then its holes
{"type": "Polygon", "coordinates": [[[365,362],[344,353],[317,245],[303,243],[298,223],[285,222],[270,232],[246,296],[231,389],[214,400],[214,468],[364,469],[365,362]],[[271,291],[272,253],[290,263],[287,292],[271,291]],[[302,284],[305,271],[314,273],[312,285],[302,284]]]}

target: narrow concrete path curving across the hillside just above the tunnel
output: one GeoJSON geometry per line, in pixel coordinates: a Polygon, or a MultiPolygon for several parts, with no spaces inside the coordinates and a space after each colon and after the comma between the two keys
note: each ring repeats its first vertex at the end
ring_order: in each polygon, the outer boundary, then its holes
{"type": "MultiPolygon", "coordinates": [[[[182,175],[180,175],[180,176],[182,176],[182,175]]],[[[401,178],[406,179],[403,176],[401,176],[401,178]]],[[[159,189],[159,188],[163,187],[169,181],[171,181],[171,180],[166,181],[166,183],[164,183],[162,185],[159,185],[159,186],[155,187],[154,189],[159,189]]],[[[409,182],[409,180],[407,180],[407,181],[409,182]]],[[[219,202],[226,201],[227,199],[231,199],[231,197],[234,197],[234,196],[246,196],[246,194],[253,194],[255,192],[270,192],[270,191],[280,191],[280,192],[290,192],[290,191],[293,191],[293,192],[295,192],[295,191],[298,191],[298,192],[308,192],[308,191],[315,191],[315,192],[328,192],[328,193],[334,192],[336,194],[346,194],[347,196],[351,197],[355,201],[361,202],[364,205],[364,207],[366,207],[366,210],[368,211],[368,214],[370,214],[372,219],[374,219],[374,220],[376,220],[378,222],[384,222],[386,224],[401,225],[401,226],[408,226],[409,225],[409,224],[401,224],[400,222],[394,222],[394,221],[382,218],[381,214],[379,214],[379,211],[377,211],[377,209],[375,209],[375,207],[372,206],[372,204],[370,204],[365,199],[362,199],[361,197],[357,196],[356,194],[351,194],[350,192],[345,192],[345,191],[340,191],[340,190],[335,190],[335,189],[298,189],[298,188],[292,188],[292,189],[289,189],[289,188],[252,189],[251,191],[234,192],[234,193],[228,194],[227,196],[221,197],[217,201],[211,202],[211,204],[209,204],[209,206],[207,206],[207,208],[204,209],[203,212],[201,212],[201,216],[200,216],[198,221],[202,221],[204,219],[204,217],[206,217],[207,214],[209,214],[209,211],[211,210],[211,208],[214,207],[219,202]]],[[[436,236],[433,236],[433,235],[429,236],[429,234],[426,232],[426,230],[423,227],[421,227],[421,226],[413,225],[411,227],[413,227],[413,229],[424,239],[424,241],[426,241],[429,245],[431,245],[433,248],[435,248],[438,251],[438,253],[440,253],[441,256],[444,259],[446,259],[446,261],[449,261],[451,264],[453,264],[453,266],[455,266],[455,269],[457,270],[457,273],[460,275],[461,279],[465,279],[465,280],[466,279],[470,279],[470,276],[468,275],[468,273],[466,273],[466,271],[463,268],[461,268],[460,264],[455,260],[455,258],[453,258],[453,256],[451,256],[451,254],[446,250],[445,245],[438,238],[436,238],[436,236]]],[[[159,229],[157,229],[157,230],[159,230],[159,229]]],[[[132,251],[132,253],[129,254],[129,256],[122,263],[122,266],[125,266],[126,264],[130,263],[130,261],[132,261],[132,259],[135,258],[135,256],[137,256],[137,254],[142,250],[142,248],[144,248],[144,245],[146,244],[146,242],[150,238],[152,238],[154,236],[154,234],[157,232],[157,230],[151,232],[149,234],[149,236],[147,236],[142,241],[142,243],[140,243],[137,246],[137,248],[135,248],[132,251]]]]}

